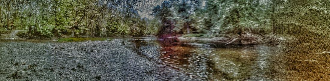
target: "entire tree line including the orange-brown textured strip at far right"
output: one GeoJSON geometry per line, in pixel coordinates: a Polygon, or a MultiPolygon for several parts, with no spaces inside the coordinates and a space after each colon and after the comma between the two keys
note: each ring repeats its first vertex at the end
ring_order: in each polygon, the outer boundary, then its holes
{"type": "Polygon", "coordinates": [[[157,0],[152,18],[140,16],[143,1],[1,0],[0,33],[25,30],[17,35],[28,39],[277,36],[288,38],[283,43],[291,76],[330,78],[324,70],[330,65],[329,0],[157,0]]]}

